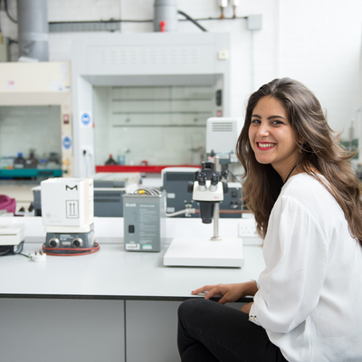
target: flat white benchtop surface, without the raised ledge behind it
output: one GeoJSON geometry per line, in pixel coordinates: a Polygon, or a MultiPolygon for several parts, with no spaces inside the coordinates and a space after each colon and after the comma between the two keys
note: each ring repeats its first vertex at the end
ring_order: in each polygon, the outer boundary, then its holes
{"type": "MultiPolygon", "coordinates": [[[[24,253],[42,243],[24,243],[24,253]]],[[[125,252],[121,243],[101,243],[81,256],[50,256],[33,262],[22,255],[0,259],[0,297],[183,300],[206,284],[256,279],[264,263],[262,248],[244,246],[242,269],[165,267],[161,252],[125,252]]]]}

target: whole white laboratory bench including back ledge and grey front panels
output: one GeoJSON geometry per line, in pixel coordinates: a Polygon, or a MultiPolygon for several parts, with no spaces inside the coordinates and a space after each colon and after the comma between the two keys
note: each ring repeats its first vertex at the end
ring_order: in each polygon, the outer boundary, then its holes
{"type": "MultiPolygon", "coordinates": [[[[40,250],[41,218],[24,217],[24,254],[40,250]]],[[[97,218],[95,218],[97,219],[97,218]]],[[[0,258],[0,350],[12,361],[178,361],[177,308],[206,284],[250,281],[264,267],[260,246],[243,247],[243,268],[165,267],[161,252],[125,252],[121,220],[95,220],[100,251],[80,256],[0,258]]],[[[220,233],[237,233],[220,220],[220,233]]],[[[233,226],[232,226],[233,225],[233,226]]],[[[167,220],[167,236],[205,235],[199,220],[167,220]],[[187,226],[186,226],[187,225],[187,226]]],[[[212,228],[212,226],[211,226],[212,228]]],[[[210,232],[212,233],[212,232],[210,232]]],[[[240,309],[243,302],[230,303],[240,309]]]]}

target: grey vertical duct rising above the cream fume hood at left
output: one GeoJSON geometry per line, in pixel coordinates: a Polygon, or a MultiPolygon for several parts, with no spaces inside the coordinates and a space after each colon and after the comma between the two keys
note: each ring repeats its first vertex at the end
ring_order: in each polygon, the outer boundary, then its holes
{"type": "Polygon", "coordinates": [[[17,0],[19,57],[49,61],[46,0],[17,0]]]}

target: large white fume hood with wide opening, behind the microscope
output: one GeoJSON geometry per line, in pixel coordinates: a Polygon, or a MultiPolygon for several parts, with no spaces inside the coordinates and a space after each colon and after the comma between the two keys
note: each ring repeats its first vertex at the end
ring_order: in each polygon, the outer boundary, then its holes
{"type": "Polygon", "coordinates": [[[199,165],[206,120],[230,111],[229,33],[72,39],[76,176],[120,164],[199,165]]]}

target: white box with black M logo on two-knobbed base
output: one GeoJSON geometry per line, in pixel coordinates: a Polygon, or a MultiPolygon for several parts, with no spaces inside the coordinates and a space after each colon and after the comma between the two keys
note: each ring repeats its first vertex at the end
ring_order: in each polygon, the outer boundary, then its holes
{"type": "Polygon", "coordinates": [[[46,239],[43,252],[80,255],[97,252],[93,224],[93,180],[50,178],[42,181],[46,239]]]}

